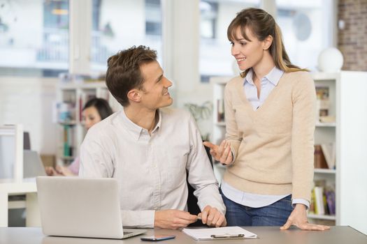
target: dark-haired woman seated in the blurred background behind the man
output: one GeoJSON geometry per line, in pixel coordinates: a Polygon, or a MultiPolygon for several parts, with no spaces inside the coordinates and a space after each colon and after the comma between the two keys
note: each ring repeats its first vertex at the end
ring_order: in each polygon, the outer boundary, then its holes
{"type": "MultiPolygon", "coordinates": [[[[111,114],[113,114],[113,111],[106,100],[103,98],[92,98],[82,109],[85,128],[89,130],[92,125],[106,119],[111,114]]],[[[48,176],[78,176],[79,158],[75,158],[68,167],[57,165],[56,168],[46,167],[45,171],[48,176]]]]}

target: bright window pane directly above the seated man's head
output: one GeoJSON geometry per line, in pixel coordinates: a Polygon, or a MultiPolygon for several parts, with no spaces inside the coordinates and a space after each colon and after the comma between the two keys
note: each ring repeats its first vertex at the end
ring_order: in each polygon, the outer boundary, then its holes
{"type": "Polygon", "coordinates": [[[105,72],[109,56],[133,45],[157,50],[161,63],[160,0],[93,0],[92,71],[105,72]]]}

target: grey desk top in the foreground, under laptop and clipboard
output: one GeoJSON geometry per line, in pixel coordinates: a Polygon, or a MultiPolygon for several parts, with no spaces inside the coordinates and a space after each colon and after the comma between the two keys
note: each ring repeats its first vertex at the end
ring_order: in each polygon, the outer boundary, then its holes
{"type": "MultiPolygon", "coordinates": [[[[160,241],[160,244],[171,243],[322,243],[322,244],[338,244],[338,243],[353,243],[353,244],[366,244],[367,236],[361,234],[359,231],[352,229],[351,227],[331,227],[329,231],[301,231],[299,229],[290,229],[288,231],[280,231],[279,227],[245,227],[245,229],[254,232],[259,236],[258,239],[246,239],[246,240],[230,240],[230,241],[195,241],[186,234],[178,230],[170,229],[147,229],[145,235],[152,234],[174,234],[176,236],[173,240],[160,241]]],[[[143,235],[142,235],[143,236],[143,235]]],[[[98,238],[71,238],[71,237],[56,237],[56,236],[44,236],[41,228],[30,227],[0,227],[0,243],[18,244],[117,244],[117,243],[140,243],[148,244],[149,242],[143,242],[140,239],[141,236],[134,236],[124,240],[110,240],[110,239],[98,239],[98,238]]]]}

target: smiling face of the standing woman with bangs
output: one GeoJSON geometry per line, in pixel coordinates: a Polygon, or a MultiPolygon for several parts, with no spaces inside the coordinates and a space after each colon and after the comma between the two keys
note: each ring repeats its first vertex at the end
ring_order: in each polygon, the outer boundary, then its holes
{"type": "Polygon", "coordinates": [[[264,58],[265,42],[258,40],[248,28],[245,29],[245,33],[250,40],[246,40],[241,34],[240,27],[237,27],[236,40],[231,40],[231,54],[240,70],[256,68],[264,58]]]}

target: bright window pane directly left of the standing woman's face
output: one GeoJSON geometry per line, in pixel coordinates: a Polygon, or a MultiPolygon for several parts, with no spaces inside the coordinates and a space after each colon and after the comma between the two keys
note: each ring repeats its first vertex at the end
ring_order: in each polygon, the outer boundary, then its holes
{"type": "Polygon", "coordinates": [[[232,76],[234,59],[226,29],[243,8],[259,7],[260,0],[201,0],[200,56],[201,82],[212,76],[232,76]]]}

